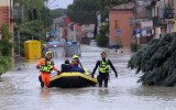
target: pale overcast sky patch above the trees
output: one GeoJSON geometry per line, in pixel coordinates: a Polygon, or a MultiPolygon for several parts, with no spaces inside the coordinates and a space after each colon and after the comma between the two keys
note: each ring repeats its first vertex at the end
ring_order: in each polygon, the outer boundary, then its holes
{"type": "Polygon", "coordinates": [[[67,9],[67,6],[72,4],[74,0],[48,0],[50,9],[67,9]]]}

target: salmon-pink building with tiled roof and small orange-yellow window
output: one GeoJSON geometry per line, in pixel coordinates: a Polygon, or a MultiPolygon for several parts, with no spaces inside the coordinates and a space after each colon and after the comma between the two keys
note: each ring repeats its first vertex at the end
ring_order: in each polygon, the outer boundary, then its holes
{"type": "Polygon", "coordinates": [[[133,28],[131,19],[133,18],[133,3],[117,6],[109,10],[109,44],[122,44],[123,47],[130,47],[132,43],[133,28]]]}

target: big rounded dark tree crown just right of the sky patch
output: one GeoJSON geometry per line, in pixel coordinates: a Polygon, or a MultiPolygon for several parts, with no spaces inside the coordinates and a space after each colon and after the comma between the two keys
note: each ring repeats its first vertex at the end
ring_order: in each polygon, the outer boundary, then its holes
{"type": "Polygon", "coordinates": [[[100,0],[75,0],[68,6],[67,15],[73,22],[89,24],[96,22],[96,12],[100,10],[100,0]]]}

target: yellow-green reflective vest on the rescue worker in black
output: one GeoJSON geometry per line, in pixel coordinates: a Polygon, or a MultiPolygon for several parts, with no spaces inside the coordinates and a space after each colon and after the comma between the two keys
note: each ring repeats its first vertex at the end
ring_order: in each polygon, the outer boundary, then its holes
{"type": "Polygon", "coordinates": [[[99,72],[100,73],[108,73],[109,72],[108,61],[103,62],[102,59],[100,59],[99,72]]]}

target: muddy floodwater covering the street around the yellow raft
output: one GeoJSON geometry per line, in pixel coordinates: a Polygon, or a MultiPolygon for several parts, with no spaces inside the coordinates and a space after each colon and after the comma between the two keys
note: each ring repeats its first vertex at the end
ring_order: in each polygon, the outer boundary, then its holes
{"type": "MultiPolygon", "coordinates": [[[[82,66],[92,72],[102,48],[81,46],[82,66]]],[[[37,61],[23,62],[22,70],[9,72],[0,78],[0,110],[175,110],[175,87],[144,87],[136,84],[140,75],[127,68],[131,53],[107,50],[119,73],[110,75],[109,88],[41,89],[35,68],[37,61]]],[[[54,58],[56,67],[65,57],[54,58]]],[[[70,59],[70,57],[68,58],[70,59]]],[[[20,64],[20,65],[22,65],[20,64]]],[[[97,70],[98,74],[98,70],[97,70]]],[[[96,74],[96,75],[97,75],[96,74]]]]}

